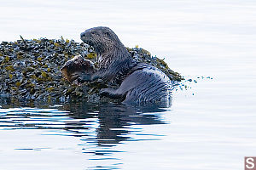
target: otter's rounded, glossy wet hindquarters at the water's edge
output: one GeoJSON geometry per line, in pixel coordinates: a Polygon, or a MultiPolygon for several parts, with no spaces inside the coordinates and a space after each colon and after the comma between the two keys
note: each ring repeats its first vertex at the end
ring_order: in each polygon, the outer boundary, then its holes
{"type": "MultiPolygon", "coordinates": [[[[127,87],[126,98],[123,103],[157,103],[171,100],[172,82],[165,73],[158,68],[140,64],[134,68],[134,72],[126,77],[123,84],[127,87]]],[[[121,86],[122,86],[121,85],[121,86]]]]}

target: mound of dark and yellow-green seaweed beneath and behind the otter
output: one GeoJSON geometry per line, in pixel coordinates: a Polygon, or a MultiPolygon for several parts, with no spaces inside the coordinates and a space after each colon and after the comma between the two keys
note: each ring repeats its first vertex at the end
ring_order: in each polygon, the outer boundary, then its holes
{"type": "MultiPolygon", "coordinates": [[[[12,100],[66,102],[70,100],[106,100],[98,92],[100,88],[118,88],[113,82],[84,82],[70,84],[61,75],[61,67],[75,55],[96,63],[93,48],[83,42],[61,39],[25,40],[0,44],[0,97],[12,100]]],[[[143,48],[127,48],[134,59],[154,65],[164,71],[171,80],[183,80],[169,69],[163,59],[152,57],[143,48]]],[[[108,99],[109,101],[109,99],[108,99]]]]}

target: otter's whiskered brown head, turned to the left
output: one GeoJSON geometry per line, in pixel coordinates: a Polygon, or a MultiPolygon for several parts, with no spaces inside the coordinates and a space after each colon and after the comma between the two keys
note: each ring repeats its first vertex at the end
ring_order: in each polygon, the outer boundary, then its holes
{"type": "Polygon", "coordinates": [[[125,48],[119,37],[108,27],[94,27],[81,33],[81,40],[95,48],[97,54],[112,53],[125,48]]]}

